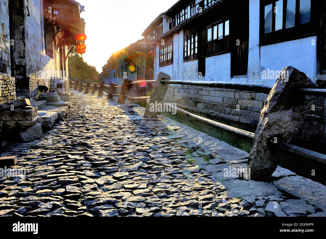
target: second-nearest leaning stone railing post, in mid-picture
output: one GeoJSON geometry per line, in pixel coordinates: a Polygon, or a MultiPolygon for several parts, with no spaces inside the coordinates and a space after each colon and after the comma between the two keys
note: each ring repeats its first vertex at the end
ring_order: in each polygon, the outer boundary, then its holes
{"type": "Polygon", "coordinates": [[[157,118],[158,112],[151,112],[150,108],[152,104],[160,103],[164,99],[166,91],[168,90],[169,84],[163,84],[161,80],[170,80],[171,77],[163,72],[159,72],[156,77],[154,88],[152,91],[151,99],[146,106],[144,118],[157,118]]]}

